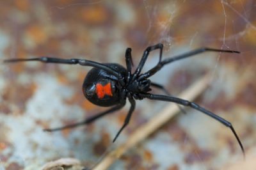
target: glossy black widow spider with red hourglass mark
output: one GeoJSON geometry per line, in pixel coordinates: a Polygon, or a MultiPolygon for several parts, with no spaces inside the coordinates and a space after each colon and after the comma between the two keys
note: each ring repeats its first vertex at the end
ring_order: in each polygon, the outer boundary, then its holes
{"type": "Polygon", "coordinates": [[[172,63],[173,61],[177,61],[184,58],[189,58],[191,56],[195,56],[196,54],[200,54],[203,52],[212,51],[212,52],[231,52],[231,53],[240,53],[236,50],[221,50],[221,49],[211,49],[207,47],[203,47],[196,50],[191,50],[184,54],[180,54],[174,56],[173,58],[167,58],[162,60],[162,52],[163,52],[163,44],[157,43],[156,45],[152,45],[147,47],[143,52],[143,56],[140,60],[138,67],[135,72],[132,73],[132,56],[131,56],[131,48],[127,48],[125,52],[125,61],[126,68],[116,63],[97,63],[95,61],[90,61],[87,59],[60,59],[60,58],[49,58],[49,57],[40,57],[40,58],[29,58],[29,59],[6,59],[5,63],[15,63],[20,61],[42,61],[44,63],[58,63],[58,64],[68,64],[68,65],[82,65],[82,66],[92,66],[92,70],[88,72],[83,82],[83,93],[84,97],[86,97],[90,102],[99,106],[113,106],[107,111],[100,112],[95,116],[87,118],[84,121],[74,123],[71,125],[67,125],[65,127],[59,128],[51,128],[45,129],[45,131],[52,132],[55,130],[62,130],[64,128],[73,128],[79,125],[86,125],[88,123],[92,123],[93,121],[101,118],[102,116],[109,114],[111,112],[117,111],[124,107],[126,98],[128,98],[131,107],[129,112],[125,118],[124,125],[120,128],[118,133],[116,134],[113,142],[115,142],[116,138],[122,132],[122,130],[128,125],[132,112],[135,109],[135,100],[142,100],[143,98],[148,98],[151,100],[162,100],[166,102],[173,102],[179,105],[184,105],[188,107],[192,107],[197,111],[203,112],[208,116],[211,116],[217,121],[220,121],[223,125],[230,128],[230,130],[235,135],[239,146],[244,154],[243,144],[241,143],[236,131],[232,124],[221,118],[220,116],[214,114],[213,112],[207,111],[200,105],[195,104],[194,102],[189,102],[188,100],[183,100],[181,98],[172,97],[170,95],[154,95],[152,93],[148,93],[150,91],[150,87],[159,88],[163,91],[166,91],[161,84],[157,84],[156,82],[151,82],[148,77],[151,77],[156,72],[161,70],[164,65],[168,63],[172,63]],[[156,66],[151,68],[145,73],[141,73],[141,70],[148,58],[149,53],[152,50],[160,50],[159,61],[156,66]]]}

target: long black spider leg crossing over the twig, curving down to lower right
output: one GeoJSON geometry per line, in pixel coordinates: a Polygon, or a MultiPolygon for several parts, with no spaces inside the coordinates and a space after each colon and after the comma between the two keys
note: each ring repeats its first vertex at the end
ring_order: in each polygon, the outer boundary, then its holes
{"type": "Polygon", "coordinates": [[[188,106],[188,107],[191,107],[191,108],[193,108],[197,111],[203,112],[204,114],[207,114],[208,116],[211,116],[212,118],[214,118],[214,120],[217,120],[220,123],[222,123],[223,125],[225,125],[226,127],[230,128],[230,130],[235,135],[235,137],[237,139],[237,142],[239,143],[239,146],[240,146],[241,150],[243,151],[243,155],[245,157],[243,144],[241,143],[238,135],[236,134],[236,131],[235,131],[234,127],[232,126],[232,124],[229,121],[221,118],[220,116],[214,114],[213,112],[207,111],[206,109],[204,109],[203,107],[200,107],[200,105],[195,104],[194,102],[189,102],[188,100],[183,100],[181,98],[168,97],[168,96],[164,96],[164,95],[152,95],[150,93],[140,94],[140,96],[143,97],[143,98],[149,98],[151,100],[162,100],[162,101],[166,101],[166,102],[173,102],[173,103],[176,103],[176,104],[188,106]]]}

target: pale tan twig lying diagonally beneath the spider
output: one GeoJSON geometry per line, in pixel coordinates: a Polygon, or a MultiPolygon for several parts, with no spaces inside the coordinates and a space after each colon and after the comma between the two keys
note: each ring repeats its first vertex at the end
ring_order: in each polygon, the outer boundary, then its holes
{"type": "MultiPolygon", "coordinates": [[[[200,93],[202,93],[202,91],[204,91],[205,88],[207,88],[209,77],[210,75],[207,74],[202,77],[202,79],[196,81],[192,86],[181,93],[179,98],[184,98],[186,100],[193,100],[196,98],[200,93]]],[[[137,128],[137,130],[129,136],[124,144],[121,144],[116,148],[116,150],[108,153],[108,155],[106,155],[106,157],[103,158],[102,161],[93,168],[93,170],[108,169],[108,167],[111,166],[116,159],[120,158],[127,150],[129,150],[129,148],[138,144],[140,141],[148,137],[148,135],[155,132],[159,127],[162,127],[164,123],[169,121],[175,114],[177,114],[177,112],[179,112],[179,107],[177,107],[176,104],[170,104],[165,107],[150,121],[137,128]]]]}

